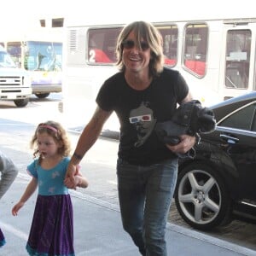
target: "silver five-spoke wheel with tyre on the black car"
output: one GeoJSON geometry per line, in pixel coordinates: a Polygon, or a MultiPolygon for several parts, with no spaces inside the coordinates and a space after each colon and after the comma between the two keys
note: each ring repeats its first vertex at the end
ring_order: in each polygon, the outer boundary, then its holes
{"type": "Polygon", "coordinates": [[[195,229],[230,223],[230,195],[218,173],[206,164],[191,164],[178,174],[175,202],[183,220],[195,229]]]}

